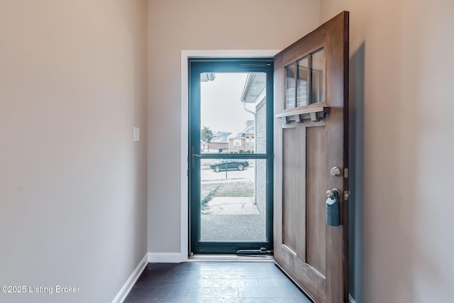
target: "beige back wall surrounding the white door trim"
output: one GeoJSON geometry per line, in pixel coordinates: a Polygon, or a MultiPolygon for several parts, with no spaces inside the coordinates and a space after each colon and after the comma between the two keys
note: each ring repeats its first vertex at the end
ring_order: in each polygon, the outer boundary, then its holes
{"type": "Polygon", "coordinates": [[[319,16],[319,0],[148,1],[150,253],[182,251],[182,50],[282,49],[319,26],[319,16]]]}

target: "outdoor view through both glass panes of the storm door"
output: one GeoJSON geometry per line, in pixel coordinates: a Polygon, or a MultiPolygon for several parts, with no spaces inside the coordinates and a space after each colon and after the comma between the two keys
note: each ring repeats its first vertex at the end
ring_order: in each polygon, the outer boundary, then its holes
{"type": "MultiPolygon", "coordinates": [[[[201,153],[265,153],[265,73],[201,77],[201,153]]],[[[266,162],[201,159],[200,241],[266,241],[266,162]]]]}

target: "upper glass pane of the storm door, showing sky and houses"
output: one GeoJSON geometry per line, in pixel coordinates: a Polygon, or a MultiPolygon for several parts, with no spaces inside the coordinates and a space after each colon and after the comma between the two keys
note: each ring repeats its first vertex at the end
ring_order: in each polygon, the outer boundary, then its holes
{"type": "Polygon", "coordinates": [[[204,75],[201,153],[266,153],[265,72],[204,75]],[[260,150],[255,150],[251,138],[260,140],[260,150]]]}

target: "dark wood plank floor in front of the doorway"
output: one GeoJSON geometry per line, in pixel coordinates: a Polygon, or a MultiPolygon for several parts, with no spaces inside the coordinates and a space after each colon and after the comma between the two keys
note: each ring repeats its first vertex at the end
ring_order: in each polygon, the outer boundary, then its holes
{"type": "Polygon", "coordinates": [[[149,263],[126,303],[310,303],[271,262],[149,263]]]}

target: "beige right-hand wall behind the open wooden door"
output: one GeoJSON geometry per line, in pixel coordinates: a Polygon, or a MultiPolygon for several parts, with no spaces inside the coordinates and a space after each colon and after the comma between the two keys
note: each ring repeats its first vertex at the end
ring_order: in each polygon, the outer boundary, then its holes
{"type": "Polygon", "coordinates": [[[350,11],[356,302],[451,302],[454,2],[322,0],[350,11]]]}

